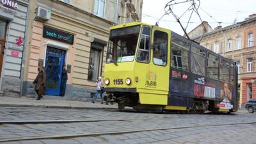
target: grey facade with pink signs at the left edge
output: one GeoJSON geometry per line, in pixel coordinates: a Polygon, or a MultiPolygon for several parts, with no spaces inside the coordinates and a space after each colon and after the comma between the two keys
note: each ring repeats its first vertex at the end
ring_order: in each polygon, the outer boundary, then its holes
{"type": "Polygon", "coordinates": [[[28,0],[0,1],[1,95],[19,97],[22,89],[28,11],[28,0]]]}

